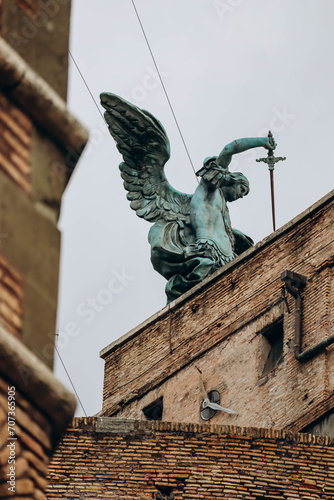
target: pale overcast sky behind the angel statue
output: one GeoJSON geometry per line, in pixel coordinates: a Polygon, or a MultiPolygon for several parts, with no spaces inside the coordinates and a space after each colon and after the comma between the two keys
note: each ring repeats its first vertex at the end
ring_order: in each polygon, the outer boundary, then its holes
{"type": "MultiPolygon", "coordinates": [[[[278,227],[332,189],[333,0],[136,0],[136,6],[196,169],[228,142],[270,128],[276,154],[287,157],[275,171],[278,227]]],[[[131,0],[96,0],[94,8],[73,0],[71,52],[97,102],[100,92],[113,92],[162,122],[172,149],[168,179],[193,192],[197,181],[131,0]]],[[[99,351],[164,307],[165,280],[151,267],[150,224],[126,200],[121,156],[71,61],[69,107],[91,138],[59,221],[58,350],[92,415],[102,402],[99,351]],[[103,291],[110,280],[112,297],[103,291]]],[[[251,183],[250,194],[230,205],[232,225],[255,242],[272,231],[269,173],[255,162],[265,153],[243,153],[230,167],[251,183]]],[[[69,385],[58,359],[56,374],[69,385]]]]}

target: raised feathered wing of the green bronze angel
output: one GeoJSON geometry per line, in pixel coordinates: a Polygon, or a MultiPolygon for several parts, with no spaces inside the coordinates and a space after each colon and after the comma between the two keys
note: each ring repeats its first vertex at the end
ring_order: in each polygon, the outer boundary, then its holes
{"type": "Polygon", "coordinates": [[[149,222],[188,223],[191,195],[176,191],[165,177],[170,147],[161,123],[115,94],[100,97],[109,132],[124,159],[119,168],[131,208],[149,222]]]}

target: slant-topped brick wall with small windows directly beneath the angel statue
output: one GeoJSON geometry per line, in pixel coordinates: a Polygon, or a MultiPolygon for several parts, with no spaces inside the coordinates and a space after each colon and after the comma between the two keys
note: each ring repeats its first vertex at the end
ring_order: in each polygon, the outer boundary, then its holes
{"type": "Polygon", "coordinates": [[[163,396],[163,420],[202,422],[199,372],[221,404],[213,422],[301,430],[334,407],[334,349],[301,364],[294,358],[294,299],[285,270],[307,277],[303,349],[334,335],[334,193],[239,257],[185,300],[102,351],[103,414],[145,419],[163,396]],[[283,318],[282,362],[263,375],[262,332],[283,318]]]}

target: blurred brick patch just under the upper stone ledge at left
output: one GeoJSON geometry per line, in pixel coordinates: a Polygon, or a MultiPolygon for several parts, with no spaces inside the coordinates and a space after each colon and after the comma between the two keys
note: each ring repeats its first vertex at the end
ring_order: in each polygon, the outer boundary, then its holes
{"type": "Polygon", "coordinates": [[[31,132],[31,120],[0,93],[0,170],[28,195],[31,132]]]}

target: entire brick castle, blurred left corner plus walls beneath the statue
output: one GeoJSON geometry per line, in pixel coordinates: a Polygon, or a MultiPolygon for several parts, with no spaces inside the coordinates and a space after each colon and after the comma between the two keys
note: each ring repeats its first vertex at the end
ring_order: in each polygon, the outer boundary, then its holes
{"type": "Polygon", "coordinates": [[[70,2],[0,13],[0,499],[333,498],[334,192],[106,346],[102,409],[72,419],[43,334],[66,147],[87,141],[65,102],[70,2]]]}

